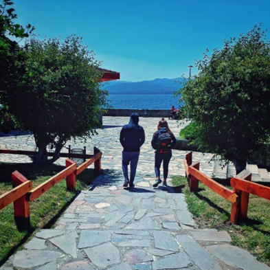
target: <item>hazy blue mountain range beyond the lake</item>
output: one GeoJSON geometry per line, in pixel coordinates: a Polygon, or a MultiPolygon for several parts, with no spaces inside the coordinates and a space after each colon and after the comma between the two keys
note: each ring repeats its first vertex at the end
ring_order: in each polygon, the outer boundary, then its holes
{"type": "Polygon", "coordinates": [[[184,78],[157,78],[142,82],[113,80],[107,82],[103,89],[108,90],[111,94],[170,94],[182,88],[184,81],[184,78]]]}

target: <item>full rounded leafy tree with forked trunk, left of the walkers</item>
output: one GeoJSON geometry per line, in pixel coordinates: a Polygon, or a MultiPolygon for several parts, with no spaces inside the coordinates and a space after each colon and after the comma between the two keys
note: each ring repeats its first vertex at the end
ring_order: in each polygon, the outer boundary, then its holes
{"type": "Polygon", "coordinates": [[[8,93],[10,111],[21,128],[34,133],[38,154],[34,162],[52,163],[71,137],[88,137],[99,126],[97,115],[106,106],[101,89],[100,63],[82,45],[82,38],[69,36],[25,43],[24,80],[8,93]],[[48,159],[47,150],[54,150],[48,159]]]}

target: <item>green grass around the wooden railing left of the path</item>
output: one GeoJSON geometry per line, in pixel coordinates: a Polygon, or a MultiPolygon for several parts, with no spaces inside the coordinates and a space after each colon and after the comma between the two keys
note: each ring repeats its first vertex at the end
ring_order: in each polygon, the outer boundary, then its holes
{"type": "MultiPolygon", "coordinates": [[[[56,173],[63,170],[62,166],[34,166],[33,164],[0,163],[0,194],[12,189],[11,173],[18,170],[33,187],[43,183],[56,173]]],[[[0,210],[0,266],[14,251],[21,249],[32,234],[39,228],[54,227],[56,220],[74,200],[79,190],[84,190],[96,177],[93,169],[87,169],[76,178],[77,192],[68,192],[65,179],[45,192],[33,202],[30,202],[30,227],[17,227],[14,222],[13,204],[0,210]]]]}

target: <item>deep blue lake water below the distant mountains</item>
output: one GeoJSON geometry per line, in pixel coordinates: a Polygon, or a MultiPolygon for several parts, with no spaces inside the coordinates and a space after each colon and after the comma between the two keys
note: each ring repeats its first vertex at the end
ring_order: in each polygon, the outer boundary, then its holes
{"type": "Polygon", "coordinates": [[[166,95],[114,95],[109,94],[113,109],[170,109],[178,108],[179,97],[166,95]]]}

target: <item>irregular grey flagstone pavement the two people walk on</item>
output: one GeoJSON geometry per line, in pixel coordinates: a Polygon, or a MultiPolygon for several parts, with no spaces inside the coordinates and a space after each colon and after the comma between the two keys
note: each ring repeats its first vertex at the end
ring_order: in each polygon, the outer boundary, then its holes
{"type": "MultiPolygon", "coordinates": [[[[102,170],[89,187],[80,192],[54,229],[41,229],[23,250],[16,252],[1,270],[30,269],[270,269],[243,249],[230,245],[227,232],[198,229],[185,198],[171,187],[152,188],[154,155],[150,139],[157,118],[140,118],[146,131],[135,188],[123,188],[119,134],[128,117],[104,117],[104,130],[86,143],[102,150],[102,170]]],[[[169,121],[177,136],[179,127],[169,121]]],[[[185,124],[181,125],[185,126],[185,124]]],[[[0,137],[1,148],[32,150],[31,135],[0,137]],[[27,145],[25,146],[25,142],[27,145]]],[[[169,175],[183,175],[187,151],[173,150],[169,175]]],[[[194,153],[201,170],[211,170],[212,155],[194,153]]],[[[25,156],[0,155],[0,161],[30,162],[25,156]],[[18,159],[17,159],[18,158],[18,159]]],[[[60,159],[63,164],[65,159],[60,159]]]]}

